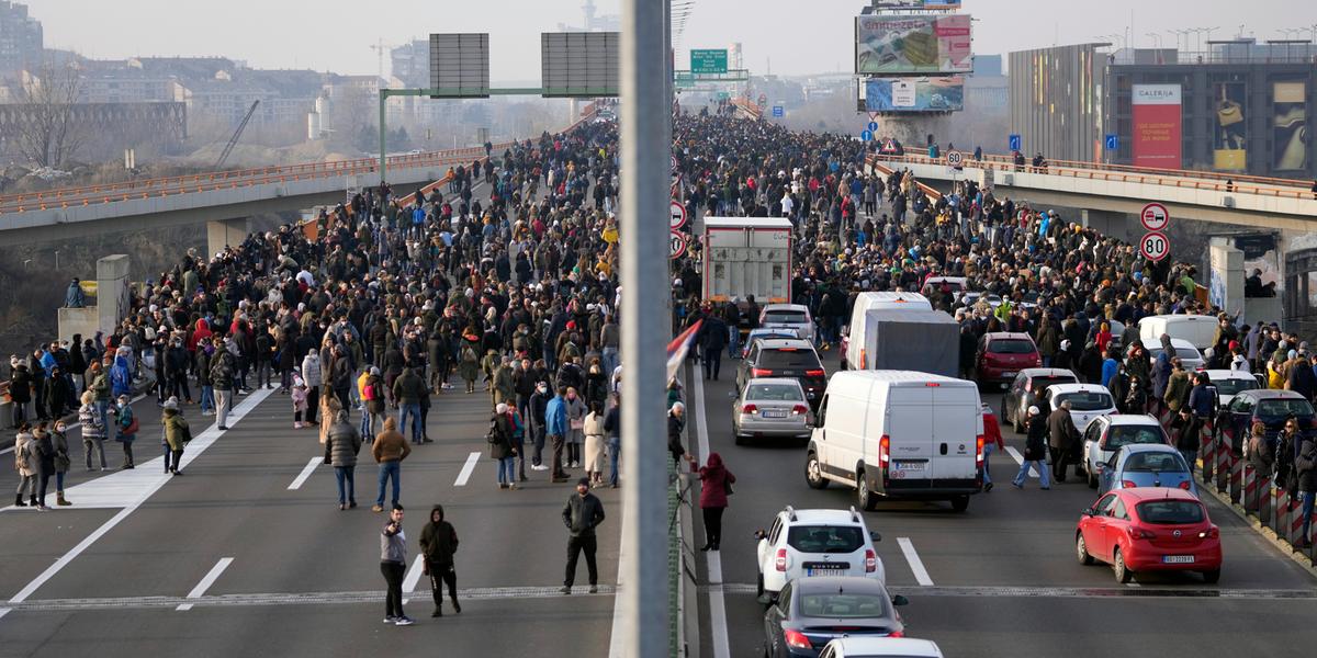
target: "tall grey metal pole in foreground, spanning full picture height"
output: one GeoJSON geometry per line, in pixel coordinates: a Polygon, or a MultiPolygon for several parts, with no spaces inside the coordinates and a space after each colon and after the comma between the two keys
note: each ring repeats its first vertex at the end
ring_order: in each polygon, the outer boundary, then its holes
{"type": "Polygon", "coordinates": [[[652,315],[668,296],[666,243],[672,101],[664,80],[666,3],[623,0],[622,149],[622,550],[627,658],[668,651],[668,459],[664,388],[666,322],[652,315]],[[647,316],[649,317],[647,320],[647,316]]]}

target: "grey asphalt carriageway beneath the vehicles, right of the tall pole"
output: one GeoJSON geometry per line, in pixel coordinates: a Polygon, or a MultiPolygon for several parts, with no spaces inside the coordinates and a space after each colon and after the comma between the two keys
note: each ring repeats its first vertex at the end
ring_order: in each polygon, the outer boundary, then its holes
{"type": "MultiPolygon", "coordinates": [[[[836,359],[823,357],[832,371],[836,359]]],[[[736,494],[723,519],[720,562],[724,583],[726,646],[731,657],[763,655],[764,605],[755,599],[753,533],[766,529],[785,505],[840,508],[853,491],[805,484],[802,445],[735,446],[731,401],[735,361],[723,361],[718,382],[687,376],[693,413],[702,407],[709,446],[736,475],[736,494]],[[702,400],[701,400],[702,397],[702,400]]],[[[698,372],[694,371],[693,372],[698,372]]],[[[1001,395],[985,391],[994,409],[1001,395]]],[[[689,424],[698,453],[699,422],[689,424]]],[[[1023,437],[1005,428],[1008,446],[1023,451],[1023,437]]],[[[1197,574],[1139,576],[1121,586],[1104,566],[1080,566],[1073,557],[1075,525],[1096,494],[1073,476],[1042,491],[1030,478],[1023,491],[1009,484],[1018,471],[1008,453],[990,457],[990,494],[973,496],[960,515],[946,503],[882,501],[865,513],[884,561],[889,587],[910,599],[901,609],[910,637],[936,641],[947,655],[1295,655],[1317,642],[1309,621],[1317,613],[1317,582],[1264,542],[1214,499],[1205,497],[1221,526],[1225,566],[1221,582],[1206,586],[1197,574]],[[921,586],[898,545],[907,538],[927,571],[921,586]]],[[[702,544],[697,515],[695,545],[702,544]]],[[[702,584],[707,558],[697,559],[702,584]]],[[[715,646],[723,629],[701,596],[701,657],[722,658],[715,646]]]]}

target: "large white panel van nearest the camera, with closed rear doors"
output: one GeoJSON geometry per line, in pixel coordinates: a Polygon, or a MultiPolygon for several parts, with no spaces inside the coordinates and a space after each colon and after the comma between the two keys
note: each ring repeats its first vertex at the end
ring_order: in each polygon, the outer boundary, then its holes
{"type": "Polygon", "coordinates": [[[806,482],[853,487],[863,509],[885,496],[950,500],[964,512],[982,487],[984,422],[973,382],[909,370],[838,372],[815,418],[806,482]]]}

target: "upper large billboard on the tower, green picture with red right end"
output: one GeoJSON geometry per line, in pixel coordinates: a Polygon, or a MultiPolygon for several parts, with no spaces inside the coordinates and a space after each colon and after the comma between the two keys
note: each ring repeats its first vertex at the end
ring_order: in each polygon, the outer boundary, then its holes
{"type": "Polygon", "coordinates": [[[855,72],[951,74],[975,67],[968,14],[860,16],[855,20],[855,72]]]}

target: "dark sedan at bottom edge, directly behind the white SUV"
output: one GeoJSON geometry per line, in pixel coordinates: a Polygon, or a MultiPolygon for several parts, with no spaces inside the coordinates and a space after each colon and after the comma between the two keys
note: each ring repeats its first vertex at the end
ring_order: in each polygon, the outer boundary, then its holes
{"type": "Polygon", "coordinates": [[[817,658],[838,637],[903,637],[896,605],[905,604],[872,578],[797,578],[764,613],[764,655],[817,658]]]}

